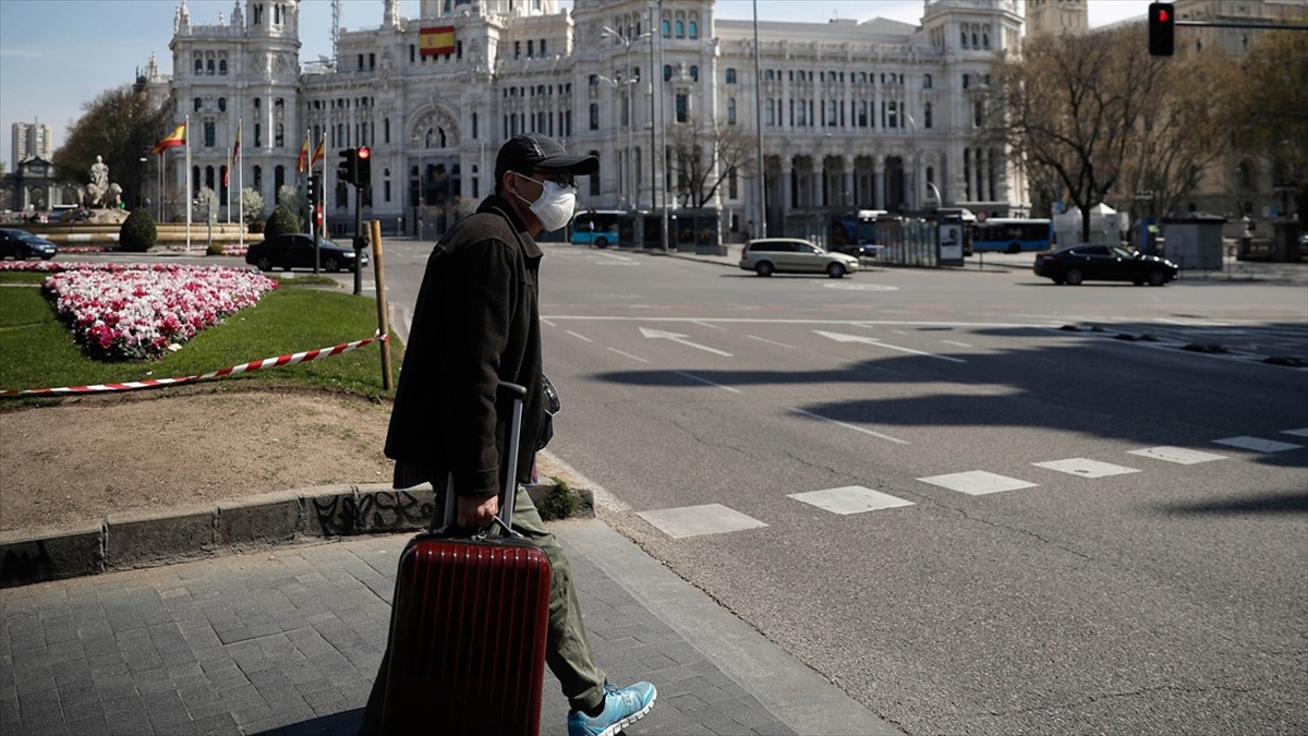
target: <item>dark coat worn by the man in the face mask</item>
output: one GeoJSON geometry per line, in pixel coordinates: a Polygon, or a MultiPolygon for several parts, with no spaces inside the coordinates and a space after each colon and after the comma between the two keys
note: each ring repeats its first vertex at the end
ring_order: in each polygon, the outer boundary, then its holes
{"type": "Polygon", "coordinates": [[[544,423],[540,258],[540,246],[497,195],[432,251],[386,435],[396,487],[430,481],[443,490],[453,471],[458,495],[502,488],[511,399],[497,393],[500,381],[527,388],[518,482],[530,479],[544,423]]]}

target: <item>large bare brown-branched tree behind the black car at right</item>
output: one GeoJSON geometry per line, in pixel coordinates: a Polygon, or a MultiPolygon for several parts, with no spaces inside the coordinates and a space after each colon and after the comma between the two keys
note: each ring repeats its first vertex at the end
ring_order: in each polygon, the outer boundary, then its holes
{"type": "Polygon", "coordinates": [[[1091,208],[1129,174],[1131,134],[1162,92],[1143,34],[1029,38],[1022,56],[997,63],[985,98],[978,138],[1008,147],[1032,181],[1057,182],[1080,208],[1083,238],[1091,208]]]}

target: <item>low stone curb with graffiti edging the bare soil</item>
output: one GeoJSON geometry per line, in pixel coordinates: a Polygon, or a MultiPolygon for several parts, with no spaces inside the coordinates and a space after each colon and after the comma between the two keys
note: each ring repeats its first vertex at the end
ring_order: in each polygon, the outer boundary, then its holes
{"type": "MultiPolygon", "coordinates": [[[[559,488],[530,486],[538,504],[559,488]]],[[[587,488],[572,519],[593,519],[587,488]]],[[[388,483],[319,486],[166,512],[114,513],[99,524],[0,532],[0,588],[267,549],[275,545],[425,529],[436,491],[388,483]]],[[[544,516],[544,515],[543,515],[544,516]]]]}

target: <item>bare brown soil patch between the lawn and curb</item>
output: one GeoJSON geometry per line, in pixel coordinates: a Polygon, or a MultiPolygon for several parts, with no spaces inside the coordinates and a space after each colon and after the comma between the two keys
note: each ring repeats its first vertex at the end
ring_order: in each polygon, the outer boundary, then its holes
{"type": "Polygon", "coordinates": [[[0,413],[0,530],[332,483],[388,483],[390,402],[171,388],[0,413]]]}

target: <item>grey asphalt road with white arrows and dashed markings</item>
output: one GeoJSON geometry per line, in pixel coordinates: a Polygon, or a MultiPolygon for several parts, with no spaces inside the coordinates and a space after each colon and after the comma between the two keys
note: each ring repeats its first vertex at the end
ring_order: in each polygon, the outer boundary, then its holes
{"type": "Polygon", "coordinates": [[[602,517],[905,732],[1308,731],[1303,284],[549,245],[542,312],[602,517]]]}

